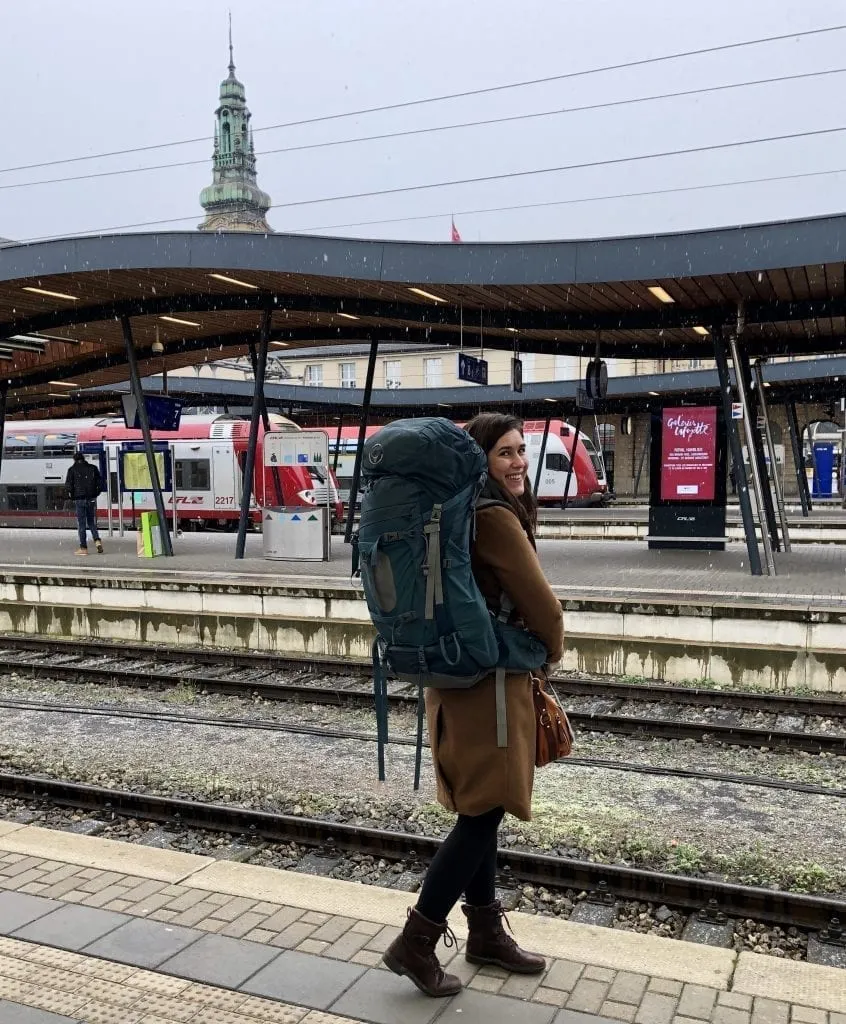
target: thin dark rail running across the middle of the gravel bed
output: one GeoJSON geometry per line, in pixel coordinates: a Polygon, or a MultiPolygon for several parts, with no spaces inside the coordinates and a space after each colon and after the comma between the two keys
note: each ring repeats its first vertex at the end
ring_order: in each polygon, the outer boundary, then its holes
{"type": "MultiPolygon", "coordinates": [[[[311,726],[299,722],[279,722],[256,718],[234,718],[224,715],[189,715],[181,712],[149,711],[143,709],[126,709],[111,706],[85,706],[79,703],[66,705],[50,700],[27,700],[23,698],[0,698],[0,708],[10,711],[35,712],[41,714],[79,715],[94,718],[131,719],[145,722],[180,726],[200,726],[216,729],[254,729],[264,732],[281,732],[292,735],[316,736],[323,740],[355,740],[359,742],[376,742],[376,734],[359,729],[333,729],[327,726],[311,726]]],[[[414,746],[415,739],[407,735],[391,735],[390,743],[400,746],[414,746]]],[[[788,790],[793,793],[804,793],[811,796],[833,797],[842,800],[846,798],[846,790],[834,786],[813,785],[792,779],[779,779],[760,775],[738,775],[732,772],[706,771],[697,768],[673,768],[639,764],[637,762],[607,760],[605,758],[566,759],[568,765],[580,768],[600,768],[607,771],[622,771],[642,775],[661,775],[671,778],[695,778],[709,782],[725,782],[733,785],[756,786],[768,790],[788,790]]]]}

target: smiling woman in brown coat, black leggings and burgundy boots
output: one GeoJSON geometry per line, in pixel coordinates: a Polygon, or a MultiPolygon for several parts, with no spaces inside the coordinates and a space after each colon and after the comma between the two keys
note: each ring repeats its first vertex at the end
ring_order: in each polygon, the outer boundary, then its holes
{"type": "MultiPolygon", "coordinates": [[[[476,513],[473,575],[492,607],[499,606],[503,593],[508,595],[514,615],[544,643],[554,664],[562,655],[561,606],[535,551],[537,509],[526,479],[522,423],[513,416],[483,413],[466,429],[488,456],[482,497],[497,502],[476,513]]],[[[531,676],[509,673],[508,745],[497,745],[495,686],[492,673],[469,690],[426,690],[437,799],[458,813],[458,821],[429,865],[417,905],[384,961],[427,995],[454,995],[461,989],[458,978],[445,974],[434,950],[441,936],[448,945],[455,941],[447,916],[462,893],[470,963],[519,974],[546,968],[542,956],[520,949],[505,931],[504,911],[495,896],[500,822],[506,811],[523,821],[532,818],[536,736],[531,676]]]]}

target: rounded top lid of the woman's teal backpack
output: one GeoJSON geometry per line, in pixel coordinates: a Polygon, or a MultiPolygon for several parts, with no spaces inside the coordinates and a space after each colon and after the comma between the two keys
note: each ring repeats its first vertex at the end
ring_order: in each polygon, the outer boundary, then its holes
{"type": "Polygon", "coordinates": [[[362,459],[366,481],[400,476],[425,487],[435,501],[478,481],[487,470],[478,444],[442,417],[394,420],[368,439],[362,459]]]}

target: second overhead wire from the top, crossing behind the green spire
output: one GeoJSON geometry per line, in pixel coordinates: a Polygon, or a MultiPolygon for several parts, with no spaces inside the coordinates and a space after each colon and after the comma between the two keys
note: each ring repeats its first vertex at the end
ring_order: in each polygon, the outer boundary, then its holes
{"type": "MultiPolygon", "coordinates": [[[[726,92],[731,89],[744,89],[760,85],[774,85],[781,82],[797,82],[811,78],[823,78],[829,75],[842,75],[846,68],[830,68],[823,71],[798,72],[794,75],[777,75],[770,78],[752,79],[746,82],[729,82],[722,85],[709,85],[696,89],[680,89],[675,92],[660,92],[648,96],[630,96],[623,99],[603,100],[596,103],[583,103],[577,106],[563,106],[556,110],[536,111],[528,114],[511,114],[499,118],[484,118],[478,121],[463,121],[457,124],[434,125],[429,128],[409,128],[401,131],[382,132],[377,135],[358,135],[352,138],[328,139],[324,142],[306,142],[299,145],[285,145],[276,150],[264,150],[257,157],[280,156],[282,154],[305,153],[311,150],[328,150],[338,145],[353,145],[365,142],[383,142],[392,139],[409,138],[416,135],[432,135],[437,132],[458,131],[467,128],[482,128],[494,125],[511,124],[519,121],[532,121],[540,118],[561,117],[566,114],[584,114],[600,110],[612,110],[620,106],[631,106],[636,103],[657,102],[663,99],[681,99],[688,96],[700,96],[709,93],[726,92]]],[[[182,167],[199,167],[208,164],[208,158],[199,160],[173,161],[167,164],[149,164],[144,167],[121,167],[112,171],[92,171],[89,174],[73,174],[58,178],[41,178],[35,181],[12,181],[0,184],[0,190],[12,188],[34,188],[39,185],[65,184],[75,181],[89,181],[96,178],[120,177],[124,174],[143,174],[151,171],[164,171],[182,167]]]]}

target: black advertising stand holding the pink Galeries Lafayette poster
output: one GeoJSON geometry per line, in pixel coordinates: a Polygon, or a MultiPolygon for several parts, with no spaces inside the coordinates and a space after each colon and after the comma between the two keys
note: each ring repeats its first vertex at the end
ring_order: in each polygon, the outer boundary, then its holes
{"type": "Polygon", "coordinates": [[[652,413],[650,548],[725,550],[725,440],[716,406],[652,413]]]}

